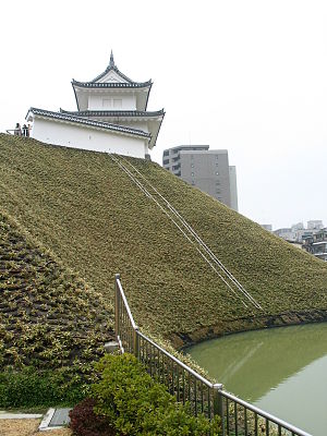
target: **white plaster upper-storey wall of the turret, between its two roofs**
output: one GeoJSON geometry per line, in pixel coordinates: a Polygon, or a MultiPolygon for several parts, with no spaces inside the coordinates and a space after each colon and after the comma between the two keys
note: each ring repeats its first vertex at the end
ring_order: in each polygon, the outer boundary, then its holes
{"type": "Polygon", "coordinates": [[[123,93],[89,95],[88,110],[136,110],[136,97],[123,93]]]}

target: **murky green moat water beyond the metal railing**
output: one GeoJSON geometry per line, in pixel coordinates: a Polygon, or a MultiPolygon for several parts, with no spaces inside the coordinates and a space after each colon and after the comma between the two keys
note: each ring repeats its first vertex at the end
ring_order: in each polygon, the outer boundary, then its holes
{"type": "Polygon", "coordinates": [[[186,352],[226,390],[327,435],[327,323],[230,335],[186,352]]]}

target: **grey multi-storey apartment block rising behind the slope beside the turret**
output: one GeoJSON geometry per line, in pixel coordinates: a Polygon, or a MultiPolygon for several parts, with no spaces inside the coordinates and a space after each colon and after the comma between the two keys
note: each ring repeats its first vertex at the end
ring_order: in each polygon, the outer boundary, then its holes
{"type": "Polygon", "coordinates": [[[230,167],[226,149],[208,145],[181,145],[164,152],[162,166],[186,183],[238,210],[237,169],[230,167]]]}

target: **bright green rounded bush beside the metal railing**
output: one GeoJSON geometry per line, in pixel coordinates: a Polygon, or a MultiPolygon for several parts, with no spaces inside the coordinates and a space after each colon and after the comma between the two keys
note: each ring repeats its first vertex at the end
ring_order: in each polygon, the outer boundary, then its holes
{"type": "Polygon", "coordinates": [[[106,355],[96,364],[96,412],[124,435],[218,435],[218,423],[193,416],[131,354],[106,355]]]}

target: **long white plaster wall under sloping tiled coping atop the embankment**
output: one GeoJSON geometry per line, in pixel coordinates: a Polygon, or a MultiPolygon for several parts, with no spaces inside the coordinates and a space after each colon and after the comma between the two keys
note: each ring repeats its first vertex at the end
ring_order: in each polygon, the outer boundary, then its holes
{"type": "Polygon", "coordinates": [[[38,117],[34,118],[31,136],[47,144],[94,152],[117,153],[143,159],[145,154],[148,153],[145,138],[124,136],[110,131],[71,125],[38,117]]]}

